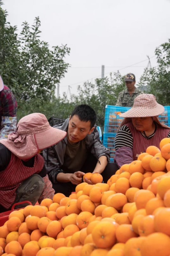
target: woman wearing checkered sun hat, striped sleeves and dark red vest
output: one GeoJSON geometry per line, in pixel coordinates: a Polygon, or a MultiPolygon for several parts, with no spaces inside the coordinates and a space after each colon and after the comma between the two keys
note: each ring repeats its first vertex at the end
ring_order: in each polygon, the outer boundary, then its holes
{"type": "Polygon", "coordinates": [[[115,161],[119,167],[137,160],[149,146],[159,148],[163,138],[170,137],[170,127],[159,122],[164,107],[152,94],[140,94],[124,117],[115,138],[115,161]]]}

